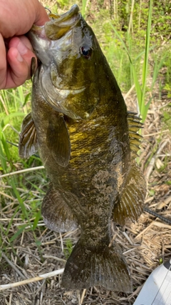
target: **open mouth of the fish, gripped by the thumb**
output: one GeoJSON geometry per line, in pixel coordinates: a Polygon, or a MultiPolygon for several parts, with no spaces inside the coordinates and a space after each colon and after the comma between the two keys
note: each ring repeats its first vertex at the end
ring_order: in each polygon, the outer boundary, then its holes
{"type": "Polygon", "coordinates": [[[48,39],[57,40],[73,29],[81,18],[79,7],[74,4],[69,11],[64,14],[49,14],[51,21],[46,22],[44,28],[48,39]]]}

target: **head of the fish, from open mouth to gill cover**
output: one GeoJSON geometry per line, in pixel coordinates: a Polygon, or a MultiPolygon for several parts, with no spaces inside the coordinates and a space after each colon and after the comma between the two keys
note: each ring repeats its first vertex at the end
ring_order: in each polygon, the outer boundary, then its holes
{"type": "Polygon", "coordinates": [[[72,119],[88,119],[98,104],[98,69],[103,56],[93,30],[75,4],[62,15],[50,14],[44,26],[28,33],[41,61],[38,86],[43,98],[72,119]]]}

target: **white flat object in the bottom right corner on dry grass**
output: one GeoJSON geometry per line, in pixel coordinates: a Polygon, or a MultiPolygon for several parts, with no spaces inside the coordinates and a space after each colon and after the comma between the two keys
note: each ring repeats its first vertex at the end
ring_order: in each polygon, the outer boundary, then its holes
{"type": "Polygon", "coordinates": [[[171,305],[171,259],[152,271],[133,305],[171,305]]]}

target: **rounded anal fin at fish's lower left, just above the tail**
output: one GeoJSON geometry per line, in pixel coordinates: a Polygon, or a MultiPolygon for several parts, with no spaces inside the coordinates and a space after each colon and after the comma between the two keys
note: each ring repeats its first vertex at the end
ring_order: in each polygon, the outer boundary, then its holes
{"type": "Polygon", "coordinates": [[[56,232],[73,231],[78,227],[75,216],[60,192],[51,186],[43,199],[41,214],[49,229],[56,232]]]}

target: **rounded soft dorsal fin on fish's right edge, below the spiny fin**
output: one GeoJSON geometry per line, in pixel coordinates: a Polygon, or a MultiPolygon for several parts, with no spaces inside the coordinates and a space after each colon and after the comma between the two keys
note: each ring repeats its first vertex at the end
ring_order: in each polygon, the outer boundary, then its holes
{"type": "Polygon", "coordinates": [[[143,211],[145,195],[145,178],[138,164],[132,161],[113,207],[113,221],[120,226],[124,226],[126,219],[136,221],[143,211]]]}

